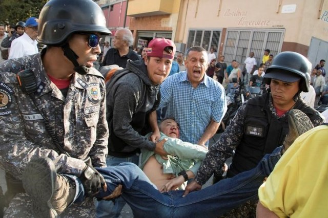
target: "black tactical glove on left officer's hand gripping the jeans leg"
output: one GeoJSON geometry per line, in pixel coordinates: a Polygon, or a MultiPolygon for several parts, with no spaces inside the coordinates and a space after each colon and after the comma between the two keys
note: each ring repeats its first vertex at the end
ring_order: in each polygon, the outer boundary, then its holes
{"type": "Polygon", "coordinates": [[[92,166],[86,163],[80,176],[87,197],[93,197],[105,185],[104,177],[92,166]]]}

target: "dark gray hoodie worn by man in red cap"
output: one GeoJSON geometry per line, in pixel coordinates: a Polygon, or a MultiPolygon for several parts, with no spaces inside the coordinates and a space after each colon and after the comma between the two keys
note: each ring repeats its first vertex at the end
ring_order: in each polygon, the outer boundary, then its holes
{"type": "Polygon", "coordinates": [[[129,72],[115,72],[106,84],[108,154],[115,157],[129,157],[140,148],[154,150],[156,146],[140,133],[159,104],[159,85],[151,83],[143,61],[128,60],[126,69],[129,72]]]}

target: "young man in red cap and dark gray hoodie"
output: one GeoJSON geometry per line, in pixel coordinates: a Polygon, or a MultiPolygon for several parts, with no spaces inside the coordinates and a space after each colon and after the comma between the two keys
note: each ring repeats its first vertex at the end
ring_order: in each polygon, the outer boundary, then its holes
{"type": "MultiPolygon", "coordinates": [[[[138,165],[140,148],[166,155],[160,137],[156,108],[159,105],[159,85],[169,75],[176,48],[170,39],[155,38],[149,42],[147,58],[128,60],[125,70],[115,72],[107,83],[108,141],[107,165],[122,162],[138,165]],[[150,128],[149,128],[150,127],[150,128]],[[150,140],[144,135],[153,132],[150,140]]],[[[118,216],[125,201],[100,201],[97,217],[118,216]]]]}

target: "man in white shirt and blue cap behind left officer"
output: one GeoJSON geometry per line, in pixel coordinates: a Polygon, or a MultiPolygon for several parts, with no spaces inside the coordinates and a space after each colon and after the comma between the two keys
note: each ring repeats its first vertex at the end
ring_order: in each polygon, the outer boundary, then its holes
{"type": "Polygon", "coordinates": [[[9,59],[38,53],[36,41],[37,25],[38,20],[35,17],[30,17],[26,20],[25,33],[11,43],[9,59]]]}

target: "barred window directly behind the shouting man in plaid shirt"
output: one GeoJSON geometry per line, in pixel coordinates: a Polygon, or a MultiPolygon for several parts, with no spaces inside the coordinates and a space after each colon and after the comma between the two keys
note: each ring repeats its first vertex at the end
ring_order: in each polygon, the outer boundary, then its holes
{"type": "Polygon", "coordinates": [[[201,46],[202,48],[218,52],[221,30],[189,30],[187,48],[201,46]]]}

